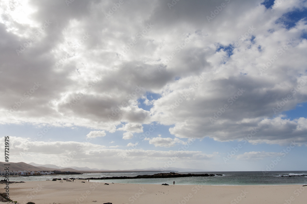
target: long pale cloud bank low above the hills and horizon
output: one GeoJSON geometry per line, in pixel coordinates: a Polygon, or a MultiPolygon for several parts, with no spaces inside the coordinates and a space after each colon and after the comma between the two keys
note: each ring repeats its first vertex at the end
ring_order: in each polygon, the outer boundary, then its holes
{"type": "MultiPolygon", "coordinates": [[[[0,138],[4,140],[4,137],[0,138]]],[[[131,145],[129,145],[131,146],[131,145]]],[[[162,166],[170,157],[178,154],[176,165],[197,163],[211,160],[215,155],[204,154],[200,151],[158,151],[158,150],[129,150],[119,146],[106,147],[82,142],[31,142],[29,138],[10,137],[12,162],[24,161],[39,164],[54,164],[58,166],[88,166],[90,168],[118,169],[116,163],[121,163],[126,168],[135,168],[141,162],[146,165],[162,166]],[[112,149],[108,149],[112,148],[112,149]],[[122,157],[124,156],[124,160],[122,157]],[[71,157],[71,158],[69,158],[71,157]],[[35,158],[33,160],[33,158],[35,158]],[[188,159],[188,161],[187,161],[188,159]],[[97,166],[97,164],[100,164],[97,166]]],[[[4,151],[4,146],[0,147],[4,151]]]]}

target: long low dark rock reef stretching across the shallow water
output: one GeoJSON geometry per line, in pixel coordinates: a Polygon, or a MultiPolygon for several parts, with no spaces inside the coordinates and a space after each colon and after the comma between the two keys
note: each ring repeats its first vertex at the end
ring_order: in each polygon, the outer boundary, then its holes
{"type": "Polygon", "coordinates": [[[192,177],[192,176],[215,176],[214,174],[181,174],[181,173],[157,173],[153,175],[138,175],[138,176],[112,176],[112,177],[101,177],[101,178],[78,178],[83,180],[107,180],[107,179],[154,179],[154,178],[178,178],[178,177],[192,177]]]}

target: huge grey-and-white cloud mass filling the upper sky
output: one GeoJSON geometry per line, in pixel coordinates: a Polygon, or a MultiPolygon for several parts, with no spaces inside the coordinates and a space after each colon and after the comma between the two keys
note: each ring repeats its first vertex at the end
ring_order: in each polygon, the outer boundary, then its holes
{"type": "Polygon", "coordinates": [[[279,116],[307,101],[306,19],[287,18],[305,1],[229,1],[212,19],[224,0],[126,1],[107,18],[113,3],[1,1],[0,124],[122,139],[168,126],[175,139],[155,147],[242,140],[252,128],[250,143],[307,142],[306,117],[279,116]]]}

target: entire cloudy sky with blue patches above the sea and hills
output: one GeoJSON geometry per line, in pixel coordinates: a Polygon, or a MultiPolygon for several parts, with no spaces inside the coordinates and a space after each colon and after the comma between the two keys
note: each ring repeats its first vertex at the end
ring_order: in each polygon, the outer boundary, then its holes
{"type": "MultiPolygon", "coordinates": [[[[10,162],[306,170],[307,1],[2,0],[10,162]]],[[[3,153],[4,161],[4,153],[3,153]]]]}

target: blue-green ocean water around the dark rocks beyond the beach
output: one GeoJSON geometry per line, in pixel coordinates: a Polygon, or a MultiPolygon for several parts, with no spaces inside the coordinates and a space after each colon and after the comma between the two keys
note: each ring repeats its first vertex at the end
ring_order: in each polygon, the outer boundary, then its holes
{"type": "MultiPolygon", "coordinates": [[[[10,177],[10,181],[41,181],[52,178],[99,178],[111,176],[137,176],[152,175],[157,172],[128,172],[128,173],[87,173],[81,175],[44,175],[44,176],[17,176],[10,177]]],[[[116,180],[90,180],[91,182],[122,183],[122,184],[175,184],[178,185],[293,185],[307,184],[307,171],[270,171],[270,172],[178,172],[192,174],[222,174],[223,176],[182,177],[158,179],[116,179],[116,180]],[[295,175],[302,175],[300,177],[295,175]],[[283,177],[284,176],[284,177],[283,177]]]]}

